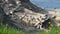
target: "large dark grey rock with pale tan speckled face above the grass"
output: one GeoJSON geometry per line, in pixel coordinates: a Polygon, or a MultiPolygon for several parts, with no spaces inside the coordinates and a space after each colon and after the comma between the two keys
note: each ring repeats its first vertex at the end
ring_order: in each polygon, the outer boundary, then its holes
{"type": "Polygon", "coordinates": [[[37,7],[29,0],[5,0],[0,7],[4,10],[3,22],[27,32],[46,29],[49,27],[48,22],[54,19],[45,9],[37,7]]]}

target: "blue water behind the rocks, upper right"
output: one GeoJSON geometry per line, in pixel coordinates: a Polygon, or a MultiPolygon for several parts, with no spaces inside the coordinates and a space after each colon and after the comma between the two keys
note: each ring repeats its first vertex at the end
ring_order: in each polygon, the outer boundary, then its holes
{"type": "Polygon", "coordinates": [[[30,0],[33,4],[43,8],[60,9],[60,0],[30,0]]]}

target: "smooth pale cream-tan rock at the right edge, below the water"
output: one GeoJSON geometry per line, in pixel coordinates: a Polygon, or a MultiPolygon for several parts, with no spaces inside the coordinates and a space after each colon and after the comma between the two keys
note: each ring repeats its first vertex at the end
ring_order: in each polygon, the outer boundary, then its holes
{"type": "Polygon", "coordinates": [[[49,14],[52,14],[52,15],[55,15],[56,18],[56,23],[57,23],[57,26],[60,26],[60,9],[51,9],[51,10],[48,10],[49,14]]]}

